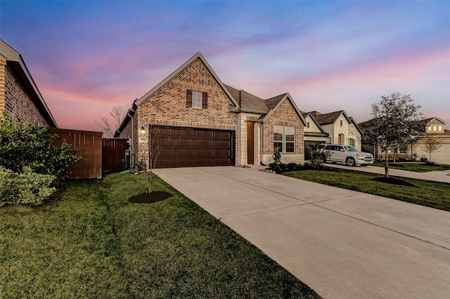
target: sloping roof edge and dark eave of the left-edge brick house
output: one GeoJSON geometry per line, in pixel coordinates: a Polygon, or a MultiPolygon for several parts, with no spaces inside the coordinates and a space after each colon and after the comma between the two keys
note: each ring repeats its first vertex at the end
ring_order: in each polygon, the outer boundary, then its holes
{"type": "Polygon", "coordinates": [[[41,112],[44,118],[49,122],[49,126],[58,128],[58,124],[56,124],[49,107],[47,107],[44,97],[42,97],[39,88],[37,88],[37,84],[34,82],[33,77],[27,68],[27,65],[25,65],[25,60],[23,60],[22,55],[20,55],[18,51],[15,51],[1,39],[0,58],[5,60],[8,68],[11,69],[11,72],[13,72],[15,77],[18,78],[21,84],[23,84],[23,87],[27,90],[27,93],[30,95],[30,99],[34,102],[34,105],[36,105],[39,112],[41,112]]]}

